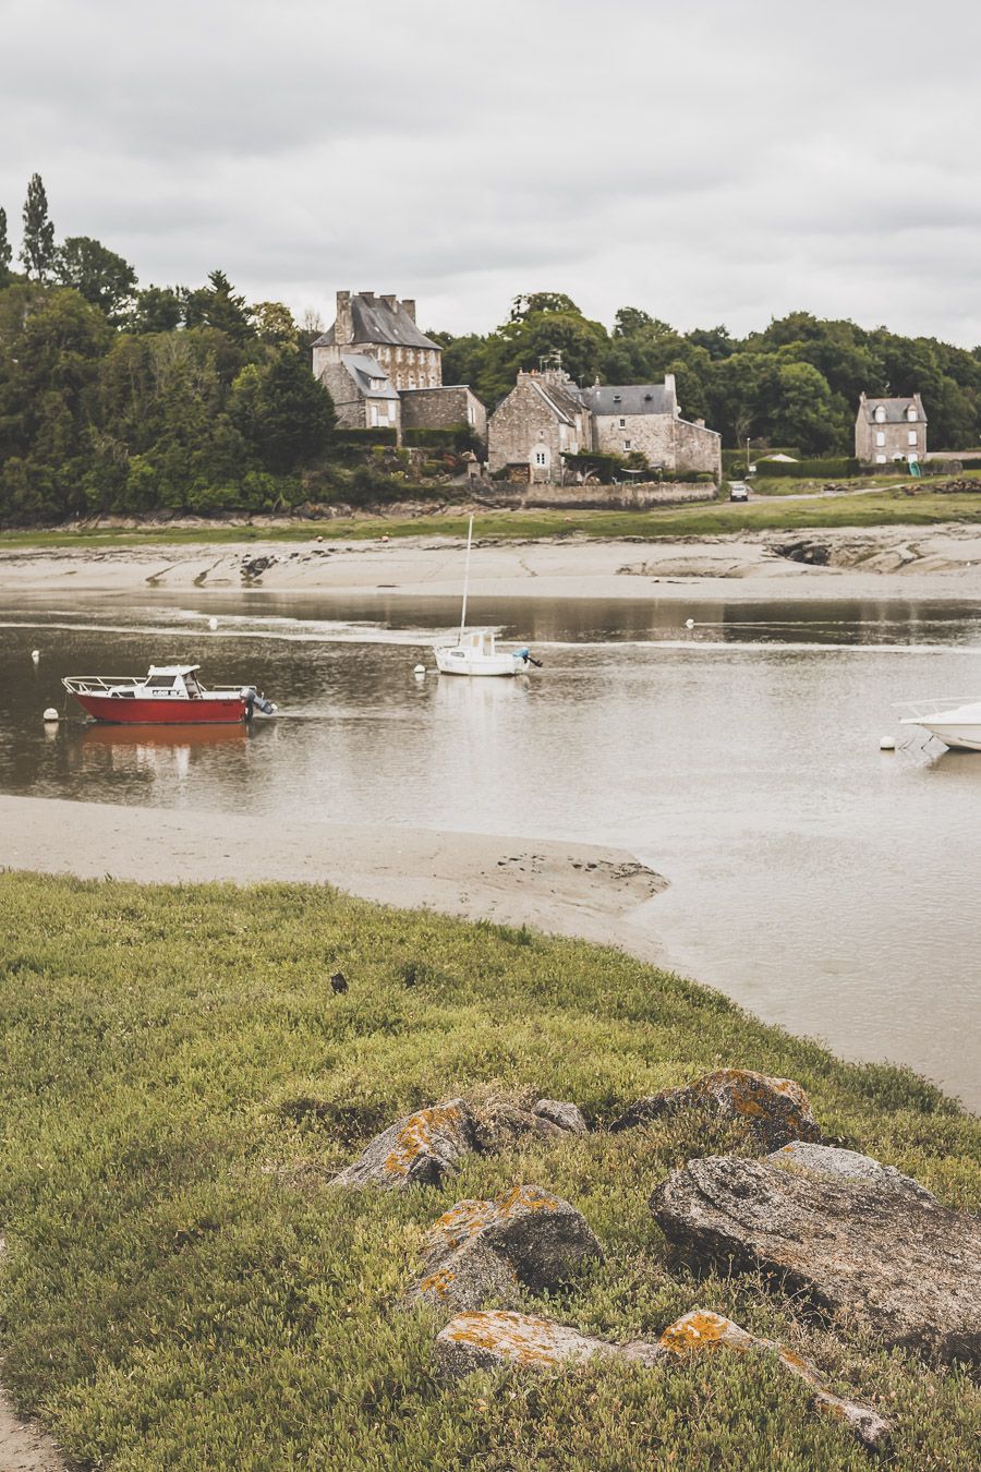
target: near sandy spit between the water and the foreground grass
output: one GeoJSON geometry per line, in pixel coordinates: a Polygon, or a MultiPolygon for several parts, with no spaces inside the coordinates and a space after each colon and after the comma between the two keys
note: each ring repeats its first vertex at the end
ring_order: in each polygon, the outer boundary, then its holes
{"type": "Polygon", "coordinates": [[[144,883],[328,883],[406,910],[529,924],[663,961],[635,913],[666,882],[631,854],[590,843],[0,796],[0,867],[144,883]]]}

